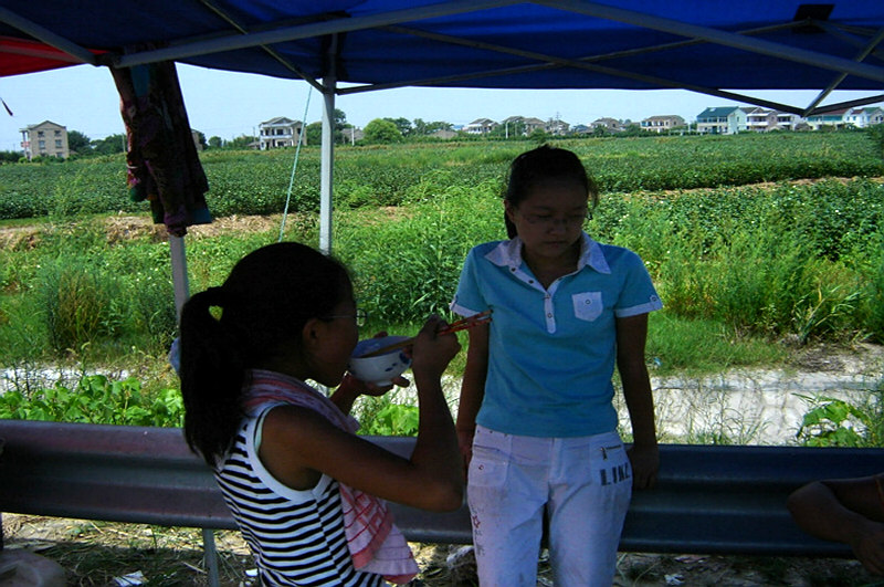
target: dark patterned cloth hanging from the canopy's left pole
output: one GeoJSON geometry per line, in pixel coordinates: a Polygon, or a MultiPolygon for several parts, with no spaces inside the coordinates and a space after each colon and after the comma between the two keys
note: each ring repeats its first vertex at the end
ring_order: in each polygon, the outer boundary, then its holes
{"type": "Polygon", "coordinates": [[[126,185],[135,201],[150,202],[154,222],[183,237],[190,224],[212,221],[209,181],[190,130],[175,62],[110,67],[126,124],[126,185]]]}

